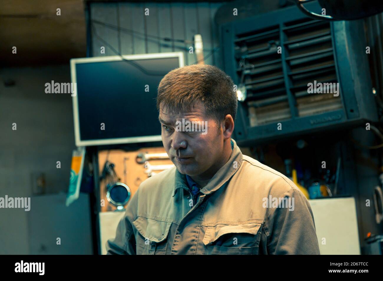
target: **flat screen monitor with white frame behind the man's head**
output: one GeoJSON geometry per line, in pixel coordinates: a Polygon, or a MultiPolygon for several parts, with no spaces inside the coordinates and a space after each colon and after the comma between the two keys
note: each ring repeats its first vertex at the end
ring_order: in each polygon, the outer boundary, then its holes
{"type": "Polygon", "coordinates": [[[70,60],[76,146],[161,141],[157,87],[183,53],[70,60]]]}

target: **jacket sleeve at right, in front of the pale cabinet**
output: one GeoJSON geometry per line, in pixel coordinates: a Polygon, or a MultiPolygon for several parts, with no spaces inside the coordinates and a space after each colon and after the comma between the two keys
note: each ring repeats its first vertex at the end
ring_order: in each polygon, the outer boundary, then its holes
{"type": "Polygon", "coordinates": [[[267,253],[320,255],[314,216],[307,198],[298,188],[290,188],[280,198],[287,198],[291,205],[288,208],[270,208],[264,224],[267,253]]]}

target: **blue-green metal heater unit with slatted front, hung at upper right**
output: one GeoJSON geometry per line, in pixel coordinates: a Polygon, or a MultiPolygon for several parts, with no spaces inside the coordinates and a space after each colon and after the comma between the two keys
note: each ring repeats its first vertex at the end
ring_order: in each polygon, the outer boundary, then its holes
{"type": "Polygon", "coordinates": [[[315,20],[290,6],[223,24],[221,34],[224,70],[239,89],[239,144],[377,121],[363,20],[315,20]]]}

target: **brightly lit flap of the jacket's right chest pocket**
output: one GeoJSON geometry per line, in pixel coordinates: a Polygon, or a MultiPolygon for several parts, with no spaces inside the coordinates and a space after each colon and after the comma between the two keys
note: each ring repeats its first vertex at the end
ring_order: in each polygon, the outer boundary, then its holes
{"type": "Polygon", "coordinates": [[[228,233],[249,233],[256,235],[262,226],[261,223],[247,223],[247,224],[217,224],[216,226],[208,226],[203,237],[203,244],[209,245],[217,240],[219,237],[228,233]]]}

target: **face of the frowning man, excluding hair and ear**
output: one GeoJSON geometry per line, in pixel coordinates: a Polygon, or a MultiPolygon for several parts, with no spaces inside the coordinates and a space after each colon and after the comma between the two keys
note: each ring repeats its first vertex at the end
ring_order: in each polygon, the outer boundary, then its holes
{"type": "Polygon", "coordinates": [[[162,143],[181,174],[211,177],[223,158],[223,134],[218,133],[215,120],[206,116],[205,106],[199,103],[190,110],[164,112],[163,107],[160,107],[162,143]],[[185,129],[182,130],[182,122],[186,128],[187,121],[200,121],[201,125],[207,125],[207,130],[201,126],[205,132],[186,132],[185,129]]]}

